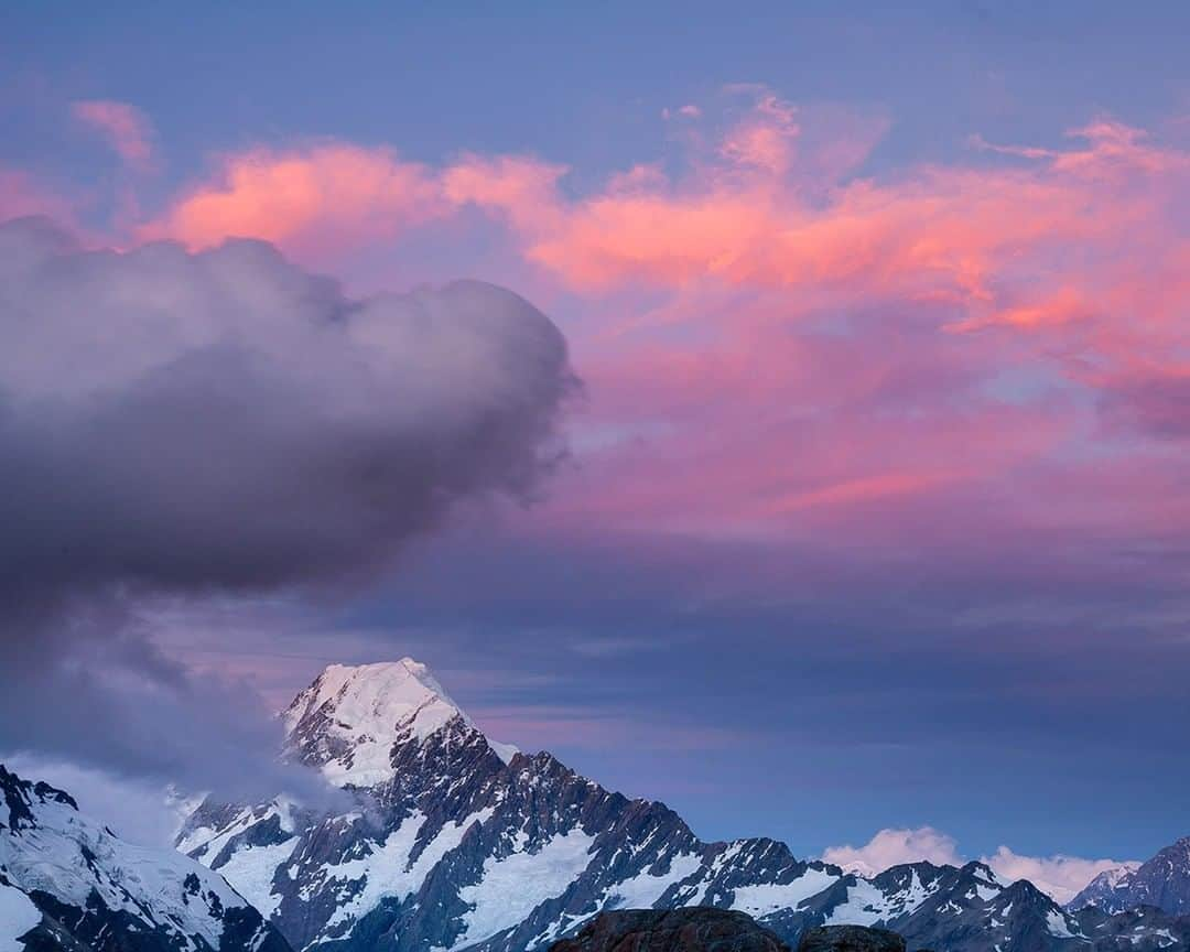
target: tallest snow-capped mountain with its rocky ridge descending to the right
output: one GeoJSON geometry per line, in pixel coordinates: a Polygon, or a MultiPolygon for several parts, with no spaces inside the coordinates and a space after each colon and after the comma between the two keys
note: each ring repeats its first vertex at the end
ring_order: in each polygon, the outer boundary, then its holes
{"type": "Polygon", "coordinates": [[[691,906],[746,913],[790,944],[816,926],[879,925],[937,952],[1190,948],[1190,920],[1065,910],[978,863],[862,878],[776,840],[703,843],[663,803],[497,749],[411,659],[328,668],[286,724],[287,756],[350,806],[208,801],[178,847],[295,948],[522,952],[602,910],[691,906]]]}

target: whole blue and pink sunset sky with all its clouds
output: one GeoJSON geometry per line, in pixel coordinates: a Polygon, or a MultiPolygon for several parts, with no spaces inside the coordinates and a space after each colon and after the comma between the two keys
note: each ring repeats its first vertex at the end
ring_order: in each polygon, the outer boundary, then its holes
{"type": "Polygon", "coordinates": [[[412,654],[704,838],[1184,835],[1190,10],[896,6],[6,5],[0,747],[412,654]]]}

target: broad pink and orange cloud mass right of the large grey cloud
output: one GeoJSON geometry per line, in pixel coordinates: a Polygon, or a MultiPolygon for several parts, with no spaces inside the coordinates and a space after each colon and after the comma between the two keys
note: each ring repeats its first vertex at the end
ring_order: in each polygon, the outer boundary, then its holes
{"type": "MultiPolygon", "coordinates": [[[[1128,438],[1180,427],[1186,156],[1098,120],[1069,150],[1013,150],[1025,168],[925,167],[807,201],[796,150],[749,151],[753,129],[796,143],[791,115],[759,108],[733,126],[727,165],[653,169],[572,200],[545,189],[547,213],[518,209],[526,258],[578,295],[616,295],[618,309],[652,296],[585,342],[602,459],[570,515],[553,514],[891,543],[923,519],[970,532],[991,502],[1035,530],[1148,527],[1147,502],[1094,496],[1109,481],[1172,486],[1176,458],[1078,459],[1100,394],[1133,395],[1116,414],[1128,438]],[[839,327],[823,333],[823,319],[839,327]],[[1161,368],[1160,384],[1128,383],[1161,368]],[[1036,512],[1009,501],[1060,481],[1086,491],[1036,512]]],[[[1153,506],[1153,526],[1158,511],[1190,525],[1169,497],[1153,506]]]]}

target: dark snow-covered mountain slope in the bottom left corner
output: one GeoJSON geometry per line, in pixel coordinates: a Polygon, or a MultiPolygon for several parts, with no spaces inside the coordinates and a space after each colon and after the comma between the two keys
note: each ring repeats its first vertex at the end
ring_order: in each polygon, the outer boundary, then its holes
{"type": "Polygon", "coordinates": [[[0,948],[289,952],[217,873],[124,843],[69,794],[0,765],[0,948]]]}

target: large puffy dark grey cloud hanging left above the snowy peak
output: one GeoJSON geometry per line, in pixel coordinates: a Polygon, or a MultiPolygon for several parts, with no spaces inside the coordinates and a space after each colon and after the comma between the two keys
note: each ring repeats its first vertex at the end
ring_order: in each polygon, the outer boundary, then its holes
{"type": "Polygon", "coordinates": [[[352,300],[262,243],[0,225],[0,749],[183,769],[175,708],[236,704],[130,606],[356,581],[456,500],[528,497],[574,387],[558,328],[490,284],[352,300]]]}

